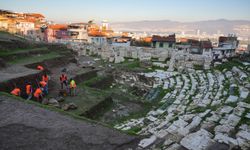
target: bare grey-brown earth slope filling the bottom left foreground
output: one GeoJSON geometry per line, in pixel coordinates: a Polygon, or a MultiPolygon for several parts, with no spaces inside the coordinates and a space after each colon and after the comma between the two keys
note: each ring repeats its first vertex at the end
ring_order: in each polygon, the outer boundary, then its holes
{"type": "Polygon", "coordinates": [[[0,149],[135,149],[138,138],[0,96],[0,149]]]}

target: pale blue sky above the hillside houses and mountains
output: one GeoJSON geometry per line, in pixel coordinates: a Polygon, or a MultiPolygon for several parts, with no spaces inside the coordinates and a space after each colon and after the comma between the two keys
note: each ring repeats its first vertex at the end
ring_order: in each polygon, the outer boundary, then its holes
{"type": "Polygon", "coordinates": [[[1,0],[0,9],[39,12],[56,22],[250,20],[250,0],[1,0]]]}

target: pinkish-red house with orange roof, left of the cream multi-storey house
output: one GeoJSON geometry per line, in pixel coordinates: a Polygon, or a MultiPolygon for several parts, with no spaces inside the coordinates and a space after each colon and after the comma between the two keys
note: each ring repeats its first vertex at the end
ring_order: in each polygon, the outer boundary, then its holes
{"type": "Polygon", "coordinates": [[[45,30],[45,41],[46,42],[58,42],[59,40],[68,39],[68,25],[66,24],[54,24],[49,25],[45,30]]]}

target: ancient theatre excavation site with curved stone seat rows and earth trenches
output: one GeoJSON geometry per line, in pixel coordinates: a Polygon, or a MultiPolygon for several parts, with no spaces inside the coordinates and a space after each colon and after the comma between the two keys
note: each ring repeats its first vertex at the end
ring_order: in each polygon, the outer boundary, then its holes
{"type": "Polygon", "coordinates": [[[250,148],[249,56],[0,36],[0,149],[250,148]]]}

